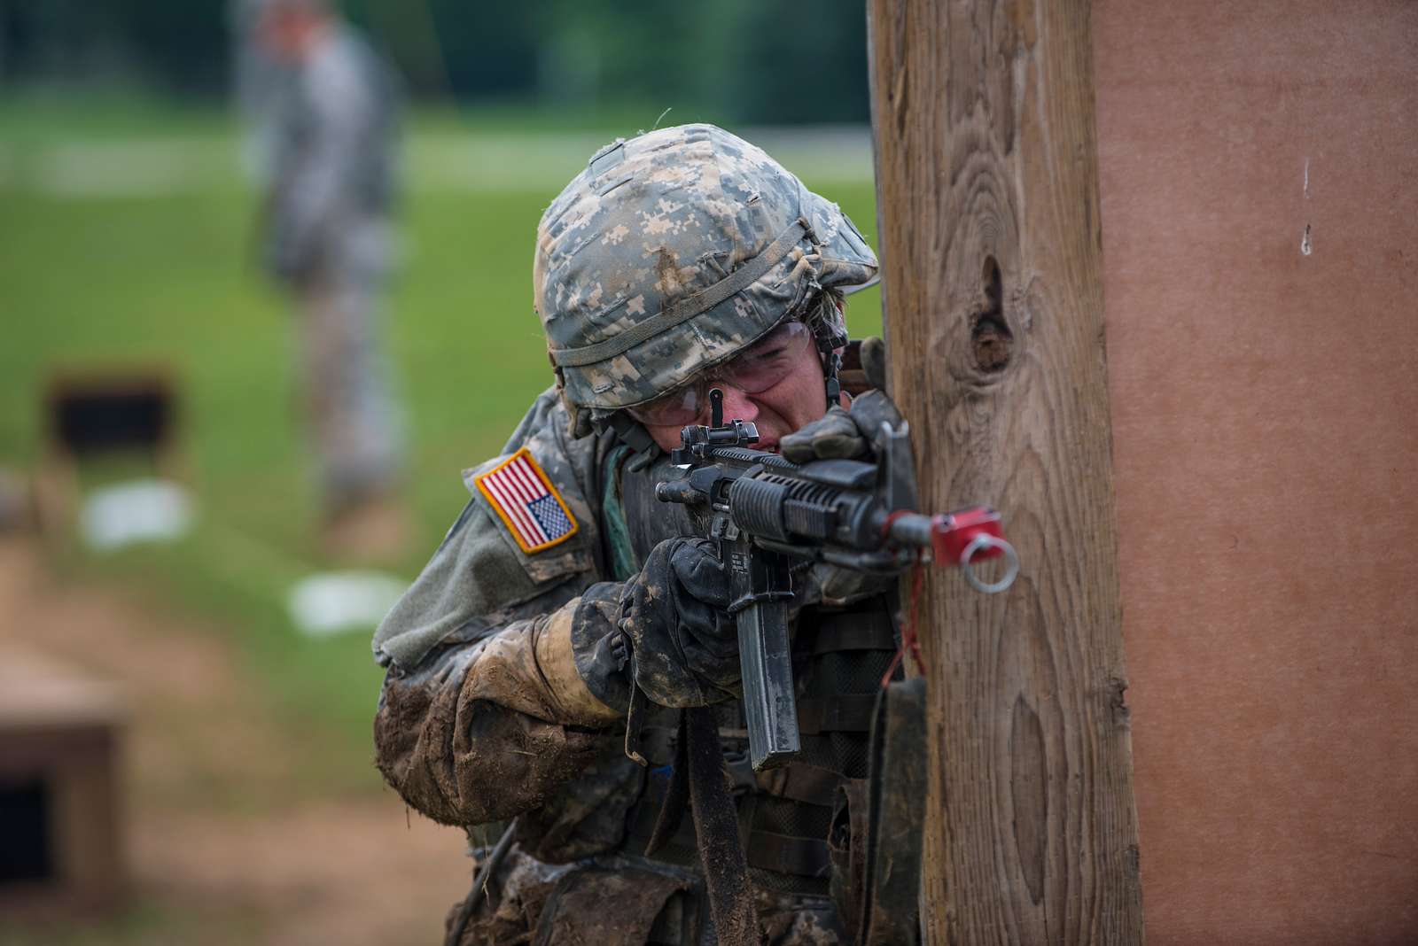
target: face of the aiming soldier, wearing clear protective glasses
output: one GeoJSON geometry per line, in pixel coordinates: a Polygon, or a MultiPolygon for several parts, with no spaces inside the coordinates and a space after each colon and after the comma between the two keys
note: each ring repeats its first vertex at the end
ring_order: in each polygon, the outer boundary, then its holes
{"type": "MultiPolygon", "coordinates": [[[[696,411],[685,416],[661,418],[654,412],[638,414],[662,450],[679,446],[679,431],[689,423],[709,423],[710,387],[723,391],[726,421],[752,421],[759,428],[754,449],[777,450],[778,440],[827,414],[822,395],[822,363],[813,343],[811,331],[801,323],[790,323],[749,348],[710,377],[691,385],[679,398],[681,405],[696,411]]],[[[688,412],[686,412],[688,414],[688,412]]]]}

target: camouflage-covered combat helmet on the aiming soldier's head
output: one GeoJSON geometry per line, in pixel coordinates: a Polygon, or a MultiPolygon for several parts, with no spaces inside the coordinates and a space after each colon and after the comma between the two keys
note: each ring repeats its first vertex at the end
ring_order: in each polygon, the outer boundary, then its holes
{"type": "MultiPolygon", "coordinates": [[[[532,283],[583,436],[875,275],[837,204],[754,144],[682,125],[591,157],[542,215],[532,283]]],[[[814,329],[845,343],[839,307],[818,309],[814,329]]]]}

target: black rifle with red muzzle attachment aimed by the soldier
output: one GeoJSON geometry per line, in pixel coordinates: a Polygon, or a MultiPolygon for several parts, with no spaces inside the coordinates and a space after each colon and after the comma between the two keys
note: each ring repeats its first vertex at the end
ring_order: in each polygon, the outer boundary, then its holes
{"type": "Polygon", "coordinates": [[[797,700],[788,642],[794,559],[872,574],[899,574],[925,559],[960,565],[981,592],[1001,592],[1018,574],[1000,514],[987,506],[922,515],[906,425],[883,423],[876,463],[791,463],[750,449],[757,428],[723,422],[723,392],[709,392],[710,426],[686,426],[671,460],[685,470],[657,484],[664,503],[683,503],[702,535],[718,545],[729,571],[729,612],[739,627],[749,758],[754,770],[798,752],[797,700]],[[984,582],[971,564],[1008,559],[1005,574],[984,582]]]}

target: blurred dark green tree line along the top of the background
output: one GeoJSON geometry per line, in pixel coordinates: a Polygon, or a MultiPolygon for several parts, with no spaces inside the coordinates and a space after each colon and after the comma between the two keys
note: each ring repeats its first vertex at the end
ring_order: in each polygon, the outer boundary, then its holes
{"type": "MultiPolygon", "coordinates": [[[[0,84],[218,99],[233,0],[0,0],[0,84]]],[[[862,0],[343,0],[424,101],[865,122],[862,0]]]]}

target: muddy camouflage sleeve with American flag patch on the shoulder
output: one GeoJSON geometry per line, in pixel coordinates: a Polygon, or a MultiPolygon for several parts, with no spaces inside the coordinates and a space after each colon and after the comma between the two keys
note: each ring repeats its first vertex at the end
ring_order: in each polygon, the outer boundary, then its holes
{"type": "MultiPolygon", "coordinates": [[[[438,821],[479,824],[540,806],[624,715],[614,688],[593,693],[573,649],[573,637],[611,634],[621,586],[598,581],[597,510],[586,500],[594,445],[567,443],[563,425],[543,395],[505,455],[467,474],[472,501],[374,636],[387,667],[379,768],[438,821]],[[574,525],[542,549],[526,548],[498,494],[478,484],[523,449],[574,525]]],[[[583,666],[594,656],[583,649],[583,666]]]]}

